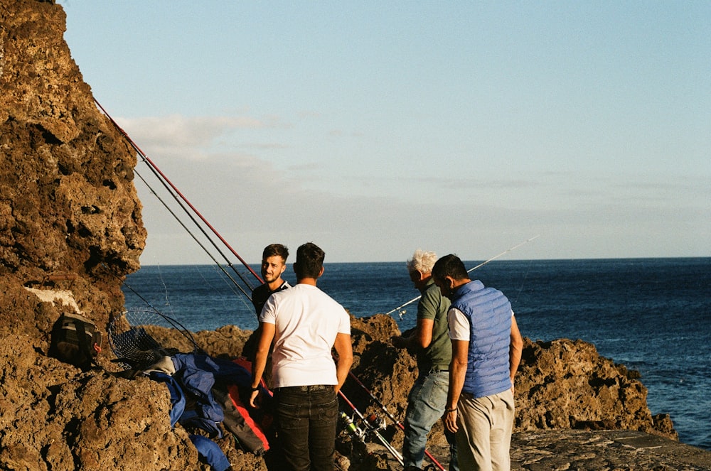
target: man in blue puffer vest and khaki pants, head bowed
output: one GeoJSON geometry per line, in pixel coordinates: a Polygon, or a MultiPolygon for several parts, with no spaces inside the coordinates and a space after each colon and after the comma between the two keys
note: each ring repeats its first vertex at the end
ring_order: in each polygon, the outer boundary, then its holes
{"type": "Polygon", "coordinates": [[[444,424],[456,433],[461,470],[510,470],[513,431],[513,378],[523,338],[508,298],[471,281],[456,255],[432,268],[447,314],[452,358],[444,424]]]}

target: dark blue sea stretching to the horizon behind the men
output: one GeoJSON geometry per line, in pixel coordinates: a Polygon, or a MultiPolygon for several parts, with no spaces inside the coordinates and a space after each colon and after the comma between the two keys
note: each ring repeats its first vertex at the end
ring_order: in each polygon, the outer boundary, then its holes
{"type": "MultiPolygon", "coordinates": [[[[387,313],[419,294],[404,261],[325,268],[319,287],[356,317],[387,313]]],[[[293,284],[290,264],[286,274],[293,284]]],[[[256,284],[245,269],[239,276],[256,284]]],[[[638,370],[652,413],[669,413],[680,441],[711,450],[711,258],[496,260],[471,277],[506,293],[525,337],[582,339],[638,370]]],[[[217,264],[144,266],[123,290],[127,310],[154,308],[193,332],[253,330],[256,315],[237,285],[248,290],[217,264]]],[[[391,315],[406,330],[416,312],[412,303],[391,315]]]]}

